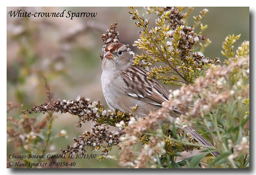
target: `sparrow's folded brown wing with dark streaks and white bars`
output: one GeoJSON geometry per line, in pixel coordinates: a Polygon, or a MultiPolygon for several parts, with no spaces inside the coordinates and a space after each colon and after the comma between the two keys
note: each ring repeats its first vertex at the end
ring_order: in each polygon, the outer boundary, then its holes
{"type": "Polygon", "coordinates": [[[122,76],[127,85],[124,89],[127,95],[157,106],[168,101],[169,91],[156,78],[148,79],[145,69],[130,66],[123,71],[122,76]]]}

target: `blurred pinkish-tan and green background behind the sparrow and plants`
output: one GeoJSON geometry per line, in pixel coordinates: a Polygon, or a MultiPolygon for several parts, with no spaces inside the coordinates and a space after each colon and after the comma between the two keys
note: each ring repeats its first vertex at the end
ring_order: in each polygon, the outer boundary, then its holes
{"type": "MultiPolygon", "coordinates": [[[[198,15],[205,7],[195,7],[188,19],[188,25],[193,24],[192,16],[198,15]]],[[[248,7],[206,7],[209,12],[202,20],[208,25],[204,36],[212,43],[204,51],[206,57],[225,58],[220,53],[222,42],[229,34],[241,34],[240,41],[249,41],[249,8],[248,7]]],[[[128,7],[26,7],[7,8],[22,9],[28,12],[62,12],[64,9],[72,12],[97,12],[95,18],[11,18],[7,14],[7,102],[23,104],[7,113],[7,116],[19,119],[20,110],[31,108],[35,104],[46,101],[44,75],[48,81],[54,100],[75,99],[85,96],[92,100],[100,99],[108,108],[100,84],[101,62],[99,52],[103,43],[101,34],[111,23],[118,22],[117,30],[123,44],[129,44],[133,52],[140,54],[132,44],[138,39],[140,30],[130,19],[128,7]]],[[[142,7],[136,8],[145,18],[149,15],[142,7]]],[[[150,14],[151,26],[154,26],[156,15],[150,14]]],[[[197,31],[196,31],[197,32],[197,31]]],[[[240,46],[237,42],[234,48],[240,46]]],[[[166,85],[169,89],[176,89],[166,85]]],[[[46,115],[46,114],[45,114],[46,115]]],[[[69,114],[56,114],[52,123],[52,134],[61,130],[67,131],[68,138],[57,138],[50,151],[60,153],[59,148],[73,144],[73,137],[90,130],[92,123],[84,123],[76,129],[77,118],[69,114]]],[[[33,114],[41,120],[43,114],[33,114]]],[[[24,154],[22,148],[7,143],[7,155],[24,154]]],[[[90,151],[88,151],[90,152],[90,151]]],[[[92,151],[99,156],[100,151],[92,151]]],[[[112,150],[111,155],[118,154],[112,150]]],[[[186,153],[190,154],[190,153],[186,153]]],[[[189,155],[188,155],[189,156],[189,155]]],[[[99,162],[96,159],[74,160],[76,168],[118,168],[114,160],[106,159],[99,162]]]]}

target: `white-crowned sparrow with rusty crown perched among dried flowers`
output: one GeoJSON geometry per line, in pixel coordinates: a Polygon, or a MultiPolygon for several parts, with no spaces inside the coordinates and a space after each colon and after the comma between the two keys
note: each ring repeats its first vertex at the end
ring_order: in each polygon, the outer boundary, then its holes
{"type": "MultiPolygon", "coordinates": [[[[146,117],[149,111],[161,108],[168,101],[169,91],[154,77],[147,78],[147,71],[132,65],[132,54],[127,45],[109,43],[104,48],[102,59],[101,85],[108,106],[112,109],[129,113],[131,107],[137,106],[134,115],[146,117]]],[[[180,111],[174,110],[175,113],[180,111]]],[[[172,115],[172,114],[171,114],[172,115]]],[[[171,123],[172,119],[170,120],[171,123]]],[[[212,146],[192,127],[184,129],[200,144],[212,146]]],[[[215,157],[219,152],[212,152],[215,157]]]]}

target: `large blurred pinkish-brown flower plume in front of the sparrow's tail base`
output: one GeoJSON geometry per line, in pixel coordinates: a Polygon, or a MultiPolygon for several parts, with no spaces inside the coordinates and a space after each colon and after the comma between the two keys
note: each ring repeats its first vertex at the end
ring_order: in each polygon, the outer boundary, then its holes
{"type": "Polygon", "coordinates": [[[180,90],[172,91],[169,96],[168,103],[164,103],[161,111],[172,110],[173,107],[178,107],[185,115],[190,117],[198,117],[206,114],[212,110],[216,105],[226,103],[227,100],[237,93],[241,98],[247,98],[249,96],[249,86],[240,84],[240,88],[237,89],[237,85],[228,84],[230,74],[235,69],[244,70],[244,75],[241,77],[249,77],[249,56],[241,58],[237,62],[231,61],[230,65],[226,66],[211,66],[207,70],[204,77],[199,77],[195,80],[195,84],[190,84],[186,87],[181,87],[180,90]],[[193,106],[190,106],[193,98],[200,95],[193,106]]]}

